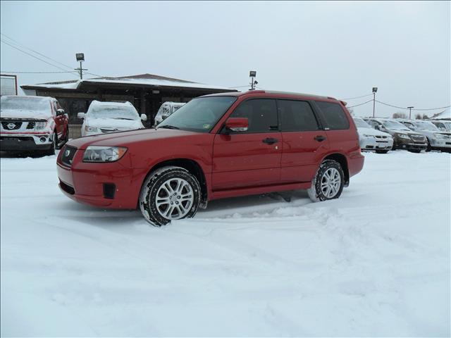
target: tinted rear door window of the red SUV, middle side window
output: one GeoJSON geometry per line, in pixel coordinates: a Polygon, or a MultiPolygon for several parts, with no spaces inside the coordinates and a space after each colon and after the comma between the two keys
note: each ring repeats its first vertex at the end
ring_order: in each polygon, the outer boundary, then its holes
{"type": "Polygon", "coordinates": [[[278,100],[277,104],[282,132],[304,132],[319,129],[315,114],[308,102],[278,100]]]}

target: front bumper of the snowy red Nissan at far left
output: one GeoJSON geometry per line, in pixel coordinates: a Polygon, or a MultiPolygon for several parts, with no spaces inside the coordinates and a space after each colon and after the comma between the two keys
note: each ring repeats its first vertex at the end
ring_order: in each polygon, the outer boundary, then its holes
{"type": "Polygon", "coordinates": [[[53,134],[0,133],[0,151],[35,151],[50,149],[53,134]]]}

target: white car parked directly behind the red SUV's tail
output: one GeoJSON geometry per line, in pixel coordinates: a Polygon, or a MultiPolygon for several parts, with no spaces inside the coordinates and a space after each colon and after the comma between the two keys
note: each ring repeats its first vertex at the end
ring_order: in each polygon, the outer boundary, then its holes
{"type": "Polygon", "coordinates": [[[378,154],[387,154],[393,147],[393,137],[379,130],[373,129],[362,118],[354,118],[359,133],[359,144],[362,150],[373,150],[378,154]]]}

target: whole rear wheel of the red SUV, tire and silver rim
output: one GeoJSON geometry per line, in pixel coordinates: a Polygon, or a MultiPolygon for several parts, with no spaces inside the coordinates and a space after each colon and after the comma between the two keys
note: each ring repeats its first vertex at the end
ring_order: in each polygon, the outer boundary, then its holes
{"type": "Polygon", "coordinates": [[[327,201],[338,199],[345,184],[345,174],[340,163],[326,160],[319,165],[316,175],[307,190],[311,201],[327,201]]]}

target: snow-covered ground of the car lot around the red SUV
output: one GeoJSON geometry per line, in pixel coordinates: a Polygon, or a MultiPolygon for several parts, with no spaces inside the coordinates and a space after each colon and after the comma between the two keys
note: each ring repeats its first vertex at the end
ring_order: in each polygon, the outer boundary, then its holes
{"type": "Polygon", "coordinates": [[[450,154],[366,154],[340,199],[149,226],[1,158],[1,336],[450,336],[450,154]]]}

